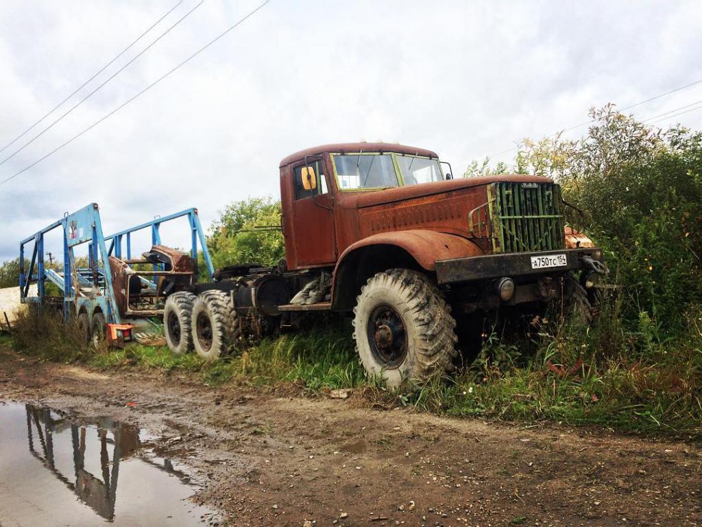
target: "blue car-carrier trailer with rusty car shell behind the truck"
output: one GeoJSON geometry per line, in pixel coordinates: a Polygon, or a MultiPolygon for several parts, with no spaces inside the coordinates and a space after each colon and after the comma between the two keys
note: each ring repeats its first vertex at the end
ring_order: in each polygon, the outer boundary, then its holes
{"type": "Polygon", "coordinates": [[[197,209],[157,217],[105,236],[98,204],[91,203],[20,242],[20,299],[39,308],[62,309],[66,320],[77,319],[86,339],[107,337],[122,343],[131,339],[135,319],[162,315],[169,294],[197,283],[198,245],[211,278],[214,269],[197,209]],[[159,233],[163,223],[183,216],[187,216],[190,228],[189,253],[161,245],[159,233]],[[63,258],[58,266],[47,265],[44,259],[44,237],[54,229],[61,229],[63,238],[63,258]],[[132,235],[145,229],[151,231],[152,246],[133,258],[132,235]],[[32,243],[27,268],[29,251],[25,246],[32,243]],[[87,258],[77,259],[74,249],[83,244],[88,244],[87,258]],[[33,283],[37,284],[36,296],[30,294],[33,283]],[[48,283],[60,294],[48,294],[48,283]]]}

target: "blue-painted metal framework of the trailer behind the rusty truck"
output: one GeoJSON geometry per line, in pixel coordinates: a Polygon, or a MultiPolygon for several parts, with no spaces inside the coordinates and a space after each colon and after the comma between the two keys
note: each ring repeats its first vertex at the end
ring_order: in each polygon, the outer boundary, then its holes
{"type": "MultiPolygon", "coordinates": [[[[109,257],[114,251],[114,256],[122,258],[122,238],[126,238],[126,259],[131,259],[131,233],[145,228],[151,228],[153,245],[160,244],[159,227],[161,223],[183,216],[187,216],[190,223],[192,242],[190,254],[195,263],[196,279],[198,240],[211,277],[214,268],[207,250],[207,240],[197,216],[197,209],[186,209],[163,218],[158,217],[110,236],[104,236],[98,204],[91,203],[73,214],[66,213],[62,219],[51,223],[20,242],[20,300],[23,304],[43,304],[46,298],[45,280],[49,280],[58,286],[63,294],[63,313],[66,319],[72,313],[77,315],[83,310],[88,313],[88,317],[92,318],[93,313],[99,309],[105,315],[107,323],[121,323],[112,287],[109,257]],[[63,230],[63,275],[53,271],[53,269],[44,268],[44,235],[59,227],[63,230]],[[110,249],[107,249],[106,245],[108,240],[112,241],[110,249]],[[25,269],[25,245],[30,242],[34,242],[34,248],[32,260],[27,270],[25,269]],[[84,243],[90,244],[88,268],[77,268],[73,249],[84,243]],[[34,272],[35,266],[36,273],[34,272]],[[32,282],[37,282],[36,297],[29,296],[29,285],[32,282]]],[[[159,271],[159,266],[154,266],[154,271],[159,271]]],[[[154,277],[154,282],[143,280],[150,287],[155,287],[156,277],[154,277]]]]}

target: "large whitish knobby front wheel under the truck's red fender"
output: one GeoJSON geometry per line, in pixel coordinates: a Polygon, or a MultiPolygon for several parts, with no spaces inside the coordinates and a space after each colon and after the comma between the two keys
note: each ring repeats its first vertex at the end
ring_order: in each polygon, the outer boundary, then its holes
{"type": "Polygon", "coordinates": [[[408,269],[377,273],[354,308],[354,339],[366,373],[414,389],[455,369],[456,321],[439,288],[408,269]]]}

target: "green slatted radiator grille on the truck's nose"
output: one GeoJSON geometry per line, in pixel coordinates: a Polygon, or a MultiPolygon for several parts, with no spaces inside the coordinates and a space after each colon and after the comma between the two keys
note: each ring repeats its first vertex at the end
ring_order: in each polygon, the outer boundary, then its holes
{"type": "Polygon", "coordinates": [[[489,191],[495,252],[564,249],[564,219],[558,185],[495,183],[489,191]]]}

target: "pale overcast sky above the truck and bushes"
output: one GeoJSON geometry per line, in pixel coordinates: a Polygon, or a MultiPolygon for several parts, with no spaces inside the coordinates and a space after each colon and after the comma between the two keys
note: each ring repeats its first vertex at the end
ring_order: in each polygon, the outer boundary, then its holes
{"type": "MultiPolygon", "coordinates": [[[[177,1],[0,1],[0,148],[177,1]]],[[[197,2],[183,0],[1,152],[0,161],[197,2]]],[[[93,124],[258,4],[204,1],[2,164],[0,180],[93,124]]],[[[0,261],[18,256],[21,238],[89,202],[100,204],[105,234],[191,206],[207,227],[233,200],[277,197],[279,161],[320,143],[421,146],[460,174],[470,160],[520,138],[583,122],[593,105],[625,107],[702,79],[701,22],[696,1],[272,0],[133,103],[0,186],[0,261]]],[[[631,111],[645,119],[698,100],[702,84],[631,111]]],[[[702,111],[673,121],[699,129],[702,111]]],[[[184,226],[164,236],[170,245],[185,240],[184,226]]]]}

